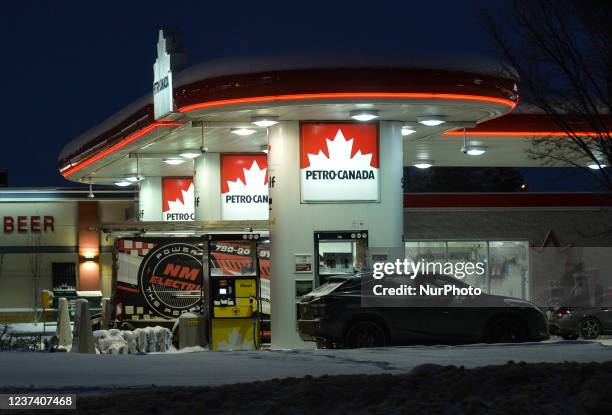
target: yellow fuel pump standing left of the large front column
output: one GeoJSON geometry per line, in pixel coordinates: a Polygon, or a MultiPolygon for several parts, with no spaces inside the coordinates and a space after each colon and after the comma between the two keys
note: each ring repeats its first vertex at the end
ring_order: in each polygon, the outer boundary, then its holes
{"type": "Polygon", "coordinates": [[[258,349],[261,304],[257,255],[259,235],[210,237],[213,239],[209,242],[210,348],[258,349]]]}

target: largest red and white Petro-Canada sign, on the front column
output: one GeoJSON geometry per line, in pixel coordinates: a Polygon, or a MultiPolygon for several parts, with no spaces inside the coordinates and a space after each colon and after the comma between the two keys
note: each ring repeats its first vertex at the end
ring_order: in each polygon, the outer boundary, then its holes
{"type": "Polygon", "coordinates": [[[379,200],[378,125],[302,123],[302,202],[379,200]]]}

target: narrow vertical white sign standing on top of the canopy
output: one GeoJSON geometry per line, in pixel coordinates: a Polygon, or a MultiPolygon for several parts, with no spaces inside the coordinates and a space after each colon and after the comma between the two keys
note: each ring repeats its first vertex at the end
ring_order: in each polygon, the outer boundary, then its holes
{"type": "Polygon", "coordinates": [[[155,120],[166,117],[174,109],[172,100],[172,70],[164,31],[159,31],[157,59],[153,64],[153,114],[155,120]]]}

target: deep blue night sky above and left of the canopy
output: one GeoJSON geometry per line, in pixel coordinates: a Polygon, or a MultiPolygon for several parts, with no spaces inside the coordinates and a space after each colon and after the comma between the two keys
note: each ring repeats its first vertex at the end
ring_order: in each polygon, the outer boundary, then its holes
{"type": "Polygon", "coordinates": [[[9,2],[0,169],[10,186],[70,185],[57,169],[61,148],[150,92],[162,26],[180,27],[189,64],[347,49],[492,53],[470,0],[9,2]]]}

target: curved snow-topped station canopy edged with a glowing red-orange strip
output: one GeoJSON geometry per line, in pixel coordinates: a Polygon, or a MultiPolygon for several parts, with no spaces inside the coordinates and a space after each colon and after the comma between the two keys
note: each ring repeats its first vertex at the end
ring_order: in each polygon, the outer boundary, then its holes
{"type": "Polygon", "coordinates": [[[518,102],[516,80],[501,73],[503,68],[486,59],[465,57],[454,62],[403,56],[212,61],[175,71],[174,108],[166,117],[155,119],[149,94],[66,145],[60,170],[69,180],[94,184],[134,173],[191,175],[191,163],[170,165],[164,159],[186,151],[266,149],[267,129],[252,124],[254,117],[350,120],[364,110],[375,111],[377,121],[400,121],[412,131],[404,137],[404,165],[419,160],[433,160],[436,166],[534,165],[524,148],[525,138],[536,130],[521,124],[526,125],[525,117],[533,124],[537,114],[486,123],[518,102]],[[427,117],[443,123],[424,125],[427,117]],[[236,134],[240,128],[251,134],[236,134]],[[471,145],[488,149],[482,157],[460,153],[464,128],[471,145]]]}

